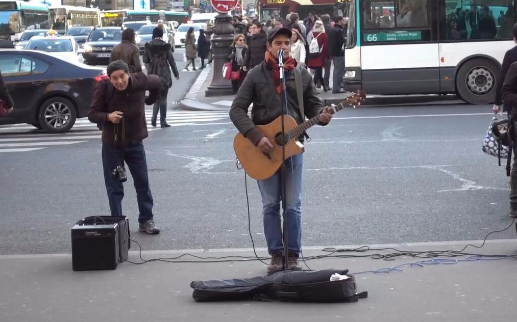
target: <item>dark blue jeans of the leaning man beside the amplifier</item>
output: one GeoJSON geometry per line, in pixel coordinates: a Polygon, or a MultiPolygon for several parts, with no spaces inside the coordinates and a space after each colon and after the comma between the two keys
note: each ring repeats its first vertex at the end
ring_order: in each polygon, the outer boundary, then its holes
{"type": "Polygon", "coordinates": [[[124,146],[102,143],[102,167],[104,169],[104,183],[108,192],[110,211],[112,216],[122,215],[122,199],[124,198],[124,186],[113,175],[113,169],[128,165],[129,172],[133,177],[138,201],[138,222],[144,223],[153,219],[153,196],[149,189],[149,178],[147,175],[147,160],[145,158],[144,144],[142,141],[129,142],[124,146]]]}

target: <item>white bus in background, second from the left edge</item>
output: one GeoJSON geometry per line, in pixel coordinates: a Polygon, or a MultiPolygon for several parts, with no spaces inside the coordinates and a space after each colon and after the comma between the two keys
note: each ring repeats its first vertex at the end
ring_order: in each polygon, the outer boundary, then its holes
{"type": "Polygon", "coordinates": [[[64,35],[71,27],[100,26],[100,10],[97,8],[75,6],[51,6],[50,21],[52,29],[64,35]]]}

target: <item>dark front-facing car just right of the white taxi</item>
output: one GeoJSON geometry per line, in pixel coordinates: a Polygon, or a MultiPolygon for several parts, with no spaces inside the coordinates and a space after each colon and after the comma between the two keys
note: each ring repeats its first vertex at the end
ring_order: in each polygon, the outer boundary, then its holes
{"type": "Polygon", "coordinates": [[[121,27],[96,27],[83,44],[83,58],[87,65],[108,65],[111,51],[122,41],[121,27]]]}

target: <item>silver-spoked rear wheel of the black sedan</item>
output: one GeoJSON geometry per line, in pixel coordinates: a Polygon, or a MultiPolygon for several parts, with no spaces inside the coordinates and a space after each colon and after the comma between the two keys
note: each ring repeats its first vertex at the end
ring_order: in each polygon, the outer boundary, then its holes
{"type": "Polygon", "coordinates": [[[43,131],[64,133],[72,128],[77,112],[72,102],[59,96],[43,102],[39,108],[38,122],[43,131]]]}

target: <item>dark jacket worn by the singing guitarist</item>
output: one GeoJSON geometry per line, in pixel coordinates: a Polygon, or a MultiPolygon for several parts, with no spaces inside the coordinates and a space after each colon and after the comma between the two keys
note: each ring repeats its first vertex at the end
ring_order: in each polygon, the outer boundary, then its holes
{"type": "MultiPolygon", "coordinates": [[[[307,118],[321,113],[323,104],[318,98],[312,76],[305,68],[300,68],[303,89],[303,109],[307,118]]],[[[298,107],[298,96],[294,80],[294,70],[286,71],[285,86],[287,91],[287,114],[294,117],[296,122],[302,122],[298,107]]],[[[277,94],[273,82],[273,71],[263,61],[260,65],[248,72],[244,83],[240,86],[232,107],[230,119],[242,135],[256,144],[264,134],[255,125],[271,123],[282,112],[282,102],[285,104],[284,93],[277,94]],[[253,103],[251,119],[248,117],[248,108],[253,103]]]]}

